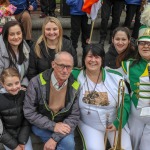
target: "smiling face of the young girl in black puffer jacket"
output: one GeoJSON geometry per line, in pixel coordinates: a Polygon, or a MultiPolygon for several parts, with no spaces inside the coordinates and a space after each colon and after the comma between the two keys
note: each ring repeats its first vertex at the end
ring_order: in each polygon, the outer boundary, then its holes
{"type": "Polygon", "coordinates": [[[2,86],[6,89],[6,91],[12,95],[18,94],[21,88],[20,79],[17,76],[9,76],[6,77],[2,86]]]}

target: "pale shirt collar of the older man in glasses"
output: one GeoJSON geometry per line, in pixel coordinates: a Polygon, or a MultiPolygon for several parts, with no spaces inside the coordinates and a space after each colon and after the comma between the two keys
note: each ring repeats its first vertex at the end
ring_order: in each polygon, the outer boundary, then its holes
{"type": "Polygon", "coordinates": [[[55,78],[54,72],[52,72],[52,74],[51,74],[51,82],[52,82],[52,85],[54,86],[54,88],[55,88],[57,91],[59,91],[59,90],[61,90],[64,86],[67,85],[68,79],[67,79],[61,86],[59,86],[59,83],[58,83],[57,79],[55,78]]]}

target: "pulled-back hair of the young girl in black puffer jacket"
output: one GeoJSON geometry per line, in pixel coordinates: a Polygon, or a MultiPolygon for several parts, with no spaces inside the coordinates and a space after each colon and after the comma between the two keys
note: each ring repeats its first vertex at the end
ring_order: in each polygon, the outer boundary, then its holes
{"type": "Polygon", "coordinates": [[[0,81],[4,83],[7,77],[18,77],[19,79],[21,78],[18,70],[12,67],[6,68],[2,71],[0,81]]]}

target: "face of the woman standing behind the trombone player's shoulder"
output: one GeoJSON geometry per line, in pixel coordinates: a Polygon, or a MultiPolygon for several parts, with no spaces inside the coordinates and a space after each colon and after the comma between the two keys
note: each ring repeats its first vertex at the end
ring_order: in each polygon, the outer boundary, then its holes
{"type": "Polygon", "coordinates": [[[124,31],[116,32],[115,36],[112,38],[112,43],[118,54],[121,54],[128,47],[130,40],[124,31]]]}

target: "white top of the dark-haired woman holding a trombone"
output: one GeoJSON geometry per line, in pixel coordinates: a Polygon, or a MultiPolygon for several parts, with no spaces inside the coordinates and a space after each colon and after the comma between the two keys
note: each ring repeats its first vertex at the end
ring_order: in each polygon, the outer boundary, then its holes
{"type": "Polygon", "coordinates": [[[112,123],[115,120],[117,101],[113,97],[112,93],[110,93],[107,87],[104,85],[103,81],[101,81],[96,85],[88,78],[88,76],[86,77],[83,75],[83,72],[81,72],[81,74],[79,75],[79,80],[82,82],[80,86],[80,96],[79,96],[81,120],[85,124],[97,130],[102,130],[105,129],[107,122],[112,123]],[[98,99],[99,100],[105,99],[105,101],[108,101],[109,104],[102,106],[102,105],[87,104],[84,102],[83,97],[86,97],[87,94],[89,94],[89,91],[92,92],[94,88],[95,91],[97,91],[99,94],[98,99]],[[107,115],[109,115],[108,119],[107,115]]]}

